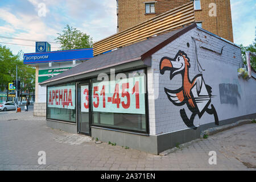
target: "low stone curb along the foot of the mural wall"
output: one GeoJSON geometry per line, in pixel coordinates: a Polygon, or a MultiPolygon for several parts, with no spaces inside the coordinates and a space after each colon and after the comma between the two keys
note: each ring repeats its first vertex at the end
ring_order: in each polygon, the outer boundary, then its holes
{"type": "Polygon", "coordinates": [[[174,147],[174,148],[168,149],[166,151],[160,152],[159,155],[160,156],[165,156],[165,155],[171,154],[172,152],[175,152],[179,149],[182,150],[182,148],[184,148],[184,147],[188,147],[193,143],[197,143],[197,142],[200,142],[201,140],[203,140],[204,135],[208,135],[208,136],[209,135],[214,135],[214,134],[220,133],[221,131],[232,129],[233,127],[250,124],[250,123],[252,123],[252,121],[253,121],[253,119],[243,119],[243,120],[234,122],[232,124],[218,126],[218,127],[212,127],[210,129],[202,131],[201,134],[200,134],[199,139],[195,139],[195,140],[192,140],[190,142],[180,144],[179,147],[174,147]]]}

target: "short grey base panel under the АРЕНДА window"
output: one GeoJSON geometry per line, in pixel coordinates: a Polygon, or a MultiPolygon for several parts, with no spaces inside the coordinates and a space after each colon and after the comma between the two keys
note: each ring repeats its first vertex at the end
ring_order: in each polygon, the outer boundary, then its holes
{"type": "Polygon", "coordinates": [[[52,129],[63,130],[68,133],[77,133],[76,123],[59,122],[47,119],[46,125],[52,129]]]}

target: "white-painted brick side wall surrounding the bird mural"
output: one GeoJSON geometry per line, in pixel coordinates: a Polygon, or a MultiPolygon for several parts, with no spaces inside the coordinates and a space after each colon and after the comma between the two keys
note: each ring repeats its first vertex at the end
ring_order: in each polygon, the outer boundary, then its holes
{"type": "MultiPolygon", "coordinates": [[[[154,82],[154,90],[159,90],[159,97],[155,101],[149,101],[150,126],[155,125],[155,131],[150,129],[150,134],[158,135],[188,129],[180,117],[180,109],[185,109],[188,118],[192,114],[191,111],[188,110],[187,105],[175,106],[172,104],[164,92],[164,88],[171,90],[180,88],[182,86],[181,75],[176,75],[172,80],[170,80],[170,71],[166,71],[164,75],[160,75],[159,63],[160,59],[164,56],[174,58],[179,50],[184,51],[190,59],[191,68],[189,68],[189,79],[192,80],[200,72],[197,66],[195,67],[195,43],[191,37],[197,39],[197,54],[201,66],[205,69],[203,71],[205,84],[212,87],[212,95],[216,96],[212,98],[211,104],[217,110],[218,119],[221,121],[256,113],[256,81],[253,79],[245,81],[243,78],[237,77],[237,69],[241,67],[242,63],[240,48],[204,31],[197,30],[197,28],[193,28],[193,30],[188,31],[152,55],[152,66],[148,68],[148,72],[153,71],[154,74],[159,74],[159,83],[157,81],[154,82]],[[189,47],[187,47],[187,43],[189,43],[189,47]],[[210,48],[216,52],[220,52],[222,46],[225,47],[222,55],[218,55],[217,53],[200,48],[200,46],[210,48]],[[221,104],[219,84],[222,83],[238,85],[238,92],[241,95],[241,98],[237,98],[238,105],[221,104]],[[155,117],[152,115],[154,107],[155,117]]],[[[148,86],[150,85],[149,82],[148,86]]],[[[199,119],[198,115],[194,119],[195,126],[210,122],[214,122],[214,117],[206,112],[201,119],[199,119]]]]}

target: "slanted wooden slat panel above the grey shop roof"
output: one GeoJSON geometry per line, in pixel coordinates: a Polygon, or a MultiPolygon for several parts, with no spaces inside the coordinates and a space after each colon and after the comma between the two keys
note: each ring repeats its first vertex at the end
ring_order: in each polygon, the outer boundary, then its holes
{"type": "Polygon", "coordinates": [[[93,44],[93,56],[195,22],[193,2],[167,11],[93,44]]]}

